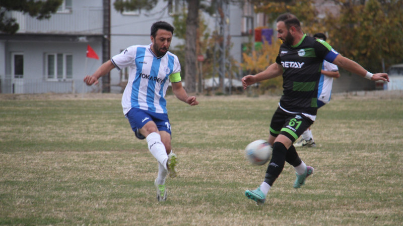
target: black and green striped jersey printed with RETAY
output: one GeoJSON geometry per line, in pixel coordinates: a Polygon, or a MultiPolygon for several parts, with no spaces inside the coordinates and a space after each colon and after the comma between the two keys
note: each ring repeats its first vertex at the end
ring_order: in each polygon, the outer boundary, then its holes
{"type": "Polygon", "coordinates": [[[283,43],[276,59],[276,63],[283,66],[284,90],[279,106],[315,121],[323,60],[333,62],[338,54],[326,42],[306,35],[296,45],[283,43]]]}

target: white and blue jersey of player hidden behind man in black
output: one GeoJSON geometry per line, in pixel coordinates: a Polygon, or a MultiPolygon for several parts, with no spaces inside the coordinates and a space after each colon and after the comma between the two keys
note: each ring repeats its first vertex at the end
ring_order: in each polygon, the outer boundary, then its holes
{"type": "MultiPolygon", "coordinates": [[[[337,65],[323,61],[322,70],[324,71],[339,71],[337,65]]],[[[331,96],[331,87],[333,85],[333,78],[320,74],[319,85],[318,85],[318,100],[328,103],[331,96]]]]}

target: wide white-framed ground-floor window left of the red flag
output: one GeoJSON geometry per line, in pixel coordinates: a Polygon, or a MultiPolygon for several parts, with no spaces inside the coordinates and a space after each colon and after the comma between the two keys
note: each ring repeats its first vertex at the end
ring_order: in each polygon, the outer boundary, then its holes
{"type": "Polygon", "coordinates": [[[73,78],[73,55],[64,53],[45,54],[46,79],[62,80],[73,78]]]}

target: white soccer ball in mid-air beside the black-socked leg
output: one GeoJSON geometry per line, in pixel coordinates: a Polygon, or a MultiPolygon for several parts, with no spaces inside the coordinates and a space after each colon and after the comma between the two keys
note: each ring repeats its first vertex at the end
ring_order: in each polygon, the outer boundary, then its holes
{"type": "Polygon", "coordinates": [[[272,158],[273,148],[265,140],[257,140],[248,144],[245,155],[249,162],[255,165],[264,165],[272,158]]]}

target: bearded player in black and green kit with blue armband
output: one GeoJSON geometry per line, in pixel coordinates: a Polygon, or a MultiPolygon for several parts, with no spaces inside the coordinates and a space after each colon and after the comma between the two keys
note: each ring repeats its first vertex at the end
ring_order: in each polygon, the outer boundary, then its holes
{"type": "Polygon", "coordinates": [[[306,36],[298,18],[292,14],[282,14],[277,18],[277,32],[283,44],[276,63],[260,73],[242,78],[246,89],[256,82],[283,75],[284,91],[273,115],[268,137],[273,156],[260,186],[245,191],[245,195],[258,205],[264,203],[268,190],[283,171],[285,162],[294,166],[296,171],[294,188],[301,187],[306,177],[313,173],[313,167],[300,159],[293,143],[316,119],[323,60],[373,81],[389,81],[387,74],[372,74],[358,63],[343,57],[326,42],[306,36]]]}

